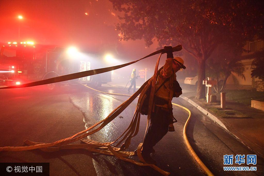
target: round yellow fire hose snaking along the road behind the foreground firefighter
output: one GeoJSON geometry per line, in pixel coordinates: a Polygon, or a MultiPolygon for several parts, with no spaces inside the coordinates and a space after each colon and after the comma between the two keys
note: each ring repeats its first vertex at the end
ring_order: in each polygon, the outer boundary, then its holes
{"type": "MultiPolygon", "coordinates": [[[[79,83],[79,82],[78,82],[78,83],[79,83]]],[[[94,91],[101,92],[101,93],[105,93],[105,94],[110,94],[110,95],[122,95],[122,96],[129,96],[129,97],[131,96],[131,95],[129,95],[129,94],[119,94],[119,93],[103,92],[103,91],[99,91],[99,90],[93,89],[93,88],[91,88],[91,87],[89,87],[89,86],[87,86],[87,85],[85,85],[85,84],[82,84],[82,83],[79,83],[79,84],[81,84],[81,85],[83,85],[83,86],[85,86],[85,87],[87,87],[87,88],[89,88],[89,89],[92,89],[92,90],[94,90],[94,91]]],[[[182,108],[182,109],[184,109],[184,110],[186,110],[186,111],[189,113],[188,119],[186,120],[186,123],[185,123],[185,125],[184,125],[184,127],[183,127],[183,137],[184,137],[184,141],[185,141],[185,143],[186,143],[186,145],[187,145],[187,148],[188,148],[188,150],[190,151],[192,157],[196,160],[196,162],[199,164],[199,166],[202,168],[202,170],[206,173],[206,175],[209,175],[209,176],[214,175],[214,174],[213,174],[213,173],[212,173],[212,172],[206,167],[206,165],[202,162],[202,160],[199,158],[199,156],[195,153],[194,149],[192,148],[192,146],[191,146],[191,144],[190,144],[190,142],[189,142],[189,140],[188,140],[188,138],[187,138],[187,135],[186,135],[186,129],[187,129],[188,123],[189,123],[189,121],[190,121],[190,119],[191,119],[191,111],[190,111],[188,108],[186,108],[186,107],[184,107],[184,106],[181,106],[181,105],[179,105],[179,104],[176,104],[176,103],[172,103],[172,104],[175,105],[175,106],[178,106],[178,107],[180,107],[180,108],[182,108]]]]}

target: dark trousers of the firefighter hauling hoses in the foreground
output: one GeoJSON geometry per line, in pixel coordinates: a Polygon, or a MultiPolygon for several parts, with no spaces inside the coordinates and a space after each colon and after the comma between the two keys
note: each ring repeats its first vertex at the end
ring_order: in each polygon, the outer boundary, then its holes
{"type": "Polygon", "coordinates": [[[150,153],[155,146],[165,136],[169,129],[169,112],[160,108],[157,112],[152,112],[150,125],[143,143],[142,152],[150,153]]]}

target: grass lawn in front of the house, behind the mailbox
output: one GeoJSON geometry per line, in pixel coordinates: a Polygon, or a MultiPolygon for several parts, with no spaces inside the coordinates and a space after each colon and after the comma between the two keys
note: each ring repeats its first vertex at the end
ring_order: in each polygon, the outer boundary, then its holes
{"type": "MultiPolygon", "coordinates": [[[[256,90],[225,90],[226,100],[235,101],[245,105],[251,105],[251,100],[264,101],[264,92],[257,92],[256,90]]],[[[214,93],[220,97],[220,94],[214,93]]]]}

